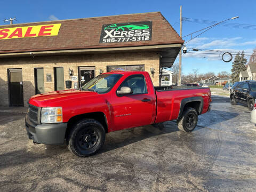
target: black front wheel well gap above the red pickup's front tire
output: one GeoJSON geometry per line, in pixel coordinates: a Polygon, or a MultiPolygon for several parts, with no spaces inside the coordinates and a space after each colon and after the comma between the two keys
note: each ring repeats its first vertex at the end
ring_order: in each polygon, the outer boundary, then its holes
{"type": "Polygon", "coordinates": [[[71,117],[68,121],[65,138],[67,138],[70,130],[72,129],[72,125],[74,125],[74,123],[76,123],[77,121],[84,119],[84,118],[92,118],[92,119],[97,120],[98,122],[100,122],[102,124],[102,126],[105,129],[105,132],[106,133],[108,132],[108,125],[107,125],[107,119],[106,119],[105,114],[102,112],[94,112],[94,113],[81,114],[81,115],[76,115],[74,117],[71,117]]]}

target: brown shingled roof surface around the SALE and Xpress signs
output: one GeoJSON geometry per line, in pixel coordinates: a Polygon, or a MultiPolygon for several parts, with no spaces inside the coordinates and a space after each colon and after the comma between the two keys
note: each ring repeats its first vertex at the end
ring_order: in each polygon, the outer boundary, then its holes
{"type": "Polygon", "coordinates": [[[160,45],[184,42],[160,12],[25,23],[0,26],[0,30],[10,27],[48,25],[53,23],[61,23],[58,36],[2,39],[0,40],[0,53],[160,45]],[[138,21],[153,21],[151,41],[99,43],[102,25],[138,21]]]}

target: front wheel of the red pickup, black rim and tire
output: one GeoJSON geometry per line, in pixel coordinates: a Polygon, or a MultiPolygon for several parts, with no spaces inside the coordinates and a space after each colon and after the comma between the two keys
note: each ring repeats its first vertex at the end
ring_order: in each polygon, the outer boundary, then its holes
{"type": "Polygon", "coordinates": [[[67,145],[74,155],[87,157],[97,153],[104,144],[105,138],[105,129],[100,122],[94,119],[82,119],[73,125],[67,138],[67,145]]]}

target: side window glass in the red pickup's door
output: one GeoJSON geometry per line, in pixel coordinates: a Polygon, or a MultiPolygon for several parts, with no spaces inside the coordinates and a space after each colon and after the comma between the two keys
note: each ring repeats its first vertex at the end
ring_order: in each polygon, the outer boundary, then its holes
{"type": "Polygon", "coordinates": [[[118,90],[120,90],[122,86],[130,87],[132,94],[148,93],[145,77],[143,75],[131,75],[127,77],[119,86],[118,90]]]}

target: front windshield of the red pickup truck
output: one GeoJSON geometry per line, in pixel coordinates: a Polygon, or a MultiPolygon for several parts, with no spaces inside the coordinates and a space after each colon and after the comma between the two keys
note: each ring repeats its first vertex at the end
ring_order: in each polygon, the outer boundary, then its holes
{"type": "Polygon", "coordinates": [[[107,93],[116,84],[120,74],[103,74],[93,78],[91,81],[82,86],[81,90],[95,91],[97,93],[107,93]]]}

